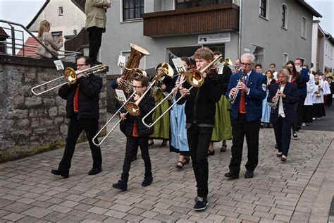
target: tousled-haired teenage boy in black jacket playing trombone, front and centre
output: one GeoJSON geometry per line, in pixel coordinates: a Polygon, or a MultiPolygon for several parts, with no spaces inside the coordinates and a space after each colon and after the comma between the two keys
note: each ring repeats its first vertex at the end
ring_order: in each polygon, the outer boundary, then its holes
{"type": "MultiPolygon", "coordinates": [[[[195,52],[194,58],[197,69],[202,70],[214,60],[214,52],[207,47],[200,48],[195,52]]],[[[178,104],[185,103],[187,139],[197,182],[194,210],[204,210],[208,205],[208,150],[214,129],[216,102],[223,93],[223,76],[218,75],[216,70],[203,73],[203,77],[204,85],[201,88],[188,90],[190,84],[185,83],[177,95],[183,97],[178,104]]]]}

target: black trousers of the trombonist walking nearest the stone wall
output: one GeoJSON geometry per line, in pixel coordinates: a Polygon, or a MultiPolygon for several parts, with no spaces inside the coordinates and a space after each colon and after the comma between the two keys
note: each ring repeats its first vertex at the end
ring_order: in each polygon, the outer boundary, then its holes
{"type": "MultiPolygon", "coordinates": [[[[77,140],[82,130],[84,130],[87,135],[90,150],[92,151],[93,167],[101,167],[101,148],[94,145],[93,143],[93,138],[97,134],[98,128],[98,119],[78,119],[77,116],[70,119],[70,124],[68,125],[68,135],[66,138],[66,146],[63,154],[63,159],[61,159],[61,162],[59,163],[59,170],[68,171],[68,169],[70,169],[70,162],[72,160],[75,150],[75,144],[77,143],[77,140]]],[[[95,141],[95,143],[97,143],[97,140],[95,141]]]]}

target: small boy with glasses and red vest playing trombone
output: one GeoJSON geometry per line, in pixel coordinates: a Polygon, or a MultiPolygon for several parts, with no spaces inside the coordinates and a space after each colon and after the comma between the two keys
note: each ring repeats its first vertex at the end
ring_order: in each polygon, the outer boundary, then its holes
{"type": "MultiPolygon", "coordinates": [[[[135,97],[130,99],[129,102],[135,102],[147,90],[149,85],[149,79],[143,76],[137,76],[133,79],[132,88],[136,92],[135,97]]],[[[120,118],[123,120],[121,123],[126,135],[126,148],[125,158],[123,164],[123,172],[120,176],[120,180],[117,183],[113,183],[113,188],[120,189],[122,191],[128,190],[128,178],[133,157],[137,155],[138,146],[142,152],[142,159],[144,159],[145,174],[142,186],[149,186],[153,181],[151,172],[151,159],[149,159],[149,135],[153,133],[153,128],[147,128],[142,123],[142,118],[154,108],[154,98],[148,93],[142,98],[138,104],[140,107],[140,114],[138,116],[132,116],[126,114],[125,110],[120,114],[120,118]]],[[[148,116],[147,120],[152,123],[152,116],[148,116]]]]}

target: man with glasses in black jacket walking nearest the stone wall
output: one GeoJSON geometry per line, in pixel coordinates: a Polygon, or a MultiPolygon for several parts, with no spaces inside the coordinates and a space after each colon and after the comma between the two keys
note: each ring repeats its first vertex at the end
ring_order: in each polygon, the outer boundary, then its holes
{"type": "MultiPolygon", "coordinates": [[[[85,70],[91,66],[92,60],[87,56],[81,56],[77,60],[78,71],[85,70]]],[[[93,157],[93,168],[88,174],[99,174],[102,171],[101,149],[99,146],[94,145],[92,141],[94,136],[97,135],[99,128],[99,94],[102,85],[102,78],[91,74],[88,77],[82,76],[78,78],[77,83],[73,85],[70,83],[63,85],[58,90],[58,95],[67,100],[66,118],[70,119],[70,124],[68,126],[68,137],[66,138],[63,159],[61,159],[58,169],[52,169],[52,174],[68,177],[75,144],[82,130],[87,135],[93,157]]]]}

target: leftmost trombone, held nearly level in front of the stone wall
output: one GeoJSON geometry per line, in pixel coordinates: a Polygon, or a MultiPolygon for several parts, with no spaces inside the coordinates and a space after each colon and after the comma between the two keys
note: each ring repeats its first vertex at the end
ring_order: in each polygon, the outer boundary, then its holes
{"type": "Polygon", "coordinates": [[[87,76],[91,75],[92,73],[97,73],[97,72],[100,72],[100,71],[104,71],[105,69],[106,69],[106,65],[101,65],[101,64],[97,65],[97,66],[93,66],[91,68],[87,68],[87,69],[82,70],[82,71],[75,71],[73,68],[67,67],[64,70],[63,76],[55,78],[53,80],[49,80],[46,83],[42,83],[41,85],[37,85],[37,86],[35,86],[34,88],[31,89],[31,92],[34,95],[36,95],[36,96],[42,95],[45,92],[49,92],[50,90],[54,90],[55,88],[61,87],[63,85],[66,85],[67,83],[70,83],[70,84],[73,85],[74,83],[77,82],[78,78],[81,78],[82,76],[87,77],[87,76]],[[47,84],[49,84],[51,82],[54,82],[55,80],[59,80],[61,78],[65,78],[66,83],[62,83],[60,85],[56,85],[53,88],[50,88],[48,90],[44,90],[44,91],[39,92],[39,93],[36,93],[34,91],[36,88],[42,87],[44,85],[47,85],[47,84]]]}

